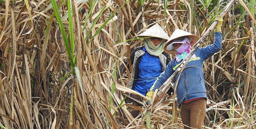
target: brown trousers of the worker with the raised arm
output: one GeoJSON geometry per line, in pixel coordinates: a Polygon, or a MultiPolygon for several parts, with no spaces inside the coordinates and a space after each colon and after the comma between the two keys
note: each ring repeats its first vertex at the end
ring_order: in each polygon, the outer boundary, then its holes
{"type": "MultiPolygon", "coordinates": [[[[202,129],[206,111],[206,100],[197,99],[188,103],[182,103],[180,108],[181,120],[184,125],[196,129],[202,129]]],[[[184,129],[190,129],[184,126],[184,129]]]]}

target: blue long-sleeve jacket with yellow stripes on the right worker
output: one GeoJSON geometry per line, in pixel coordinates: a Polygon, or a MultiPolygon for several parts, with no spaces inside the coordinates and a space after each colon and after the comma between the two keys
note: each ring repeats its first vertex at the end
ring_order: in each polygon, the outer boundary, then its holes
{"type": "MultiPolygon", "coordinates": [[[[176,91],[178,105],[183,101],[191,99],[207,98],[204,85],[203,62],[221,50],[221,41],[222,33],[215,32],[214,44],[198,48],[195,52],[197,57],[190,59],[181,74],[176,75],[174,85],[178,83],[176,91]]],[[[166,66],[165,71],[157,78],[150,90],[155,91],[155,89],[159,89],[174,71],[177,70],[181,62],[182,60],[179,62],[176,62],[175,59],[172,60],[166,66]]]]}

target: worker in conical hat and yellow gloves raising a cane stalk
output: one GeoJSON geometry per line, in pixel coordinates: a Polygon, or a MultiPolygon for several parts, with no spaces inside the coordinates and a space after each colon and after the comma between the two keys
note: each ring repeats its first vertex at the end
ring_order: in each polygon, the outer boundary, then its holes
{"type": "MultiPolygon", "coordinates": [[[[215,53],[221,50],[221,25],[223,19],[216,16],[214,21],[218,21],[215,26],[214,43],[206,47],[198,48],[185,66],[181,73],[176,75],[174,86],[177,86],[177,103],[180,108],[180,116],[184,129],[196,128],[201,129],[204,123],[206,111],[206,89],[204,85],[203,62],[215,53]]],[[[160,74],[158,79],[147,93],[147,97],[153,96],[155,89],[160,86],[177,70],[180,63],[191,51],[191,46],[200,38],[194,34],[176,29],[169,40],[166,42],[164,51],[169,54],[176,54],[167,66],[165,71],[160,74]]]]}

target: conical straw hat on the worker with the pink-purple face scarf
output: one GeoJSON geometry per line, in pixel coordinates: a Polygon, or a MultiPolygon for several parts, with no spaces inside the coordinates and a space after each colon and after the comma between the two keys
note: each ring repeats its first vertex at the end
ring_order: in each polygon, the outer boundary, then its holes
{"type": "Polygon", "coordinates": [[[172,36],[166,42],[165,47],[163,48],[163,50],[166,53],[169,53],[169,54],[177,54],[177,52],[174,51],[174,49],[173,49],[172,41],[174,41],[174,39],[176,39],[176,38],[183,37],[183,36],[188,37],[188,39],[190,40],[190,45],[191,46],[193,46],[200,39],[200,37],[195,35],[195,34],[185,32],[184,30],[176,29],[176,30],[174,30],[172,36]],[[168,49],[168,48],[171,48],[171,49],[168,49]]]}

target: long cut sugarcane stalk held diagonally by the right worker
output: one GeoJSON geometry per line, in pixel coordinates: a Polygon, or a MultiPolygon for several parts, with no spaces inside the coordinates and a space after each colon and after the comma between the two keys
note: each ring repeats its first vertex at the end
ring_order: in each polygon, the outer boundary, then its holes
{"type": "MultiPolygon", "coordinates": [[[[225,7],[225,9],[221,12],[221,16],[223,17],[227,11],[231,8],[231,5],[233,4],[235,0],[231,0],[225,7]]],[[[166,93],[170,88],[170,82],[173,82],[176,75],[180,73],[188,63],[188,61],[193,56],[194,52],[197,51],[197,48],[201,46],[201,43],[204,42],[205,38],[210,34],[210,32],[214,29],[214,27],[217,25],[218,21],[214,21],[212,25],[205,31],[205,33],[201,36],[201,38],[193,45],[191,52],[188,54],[188,56],[181,62],[179,68],[160,86],[159,91],[156,93],[156,97],[158,101],[152,101],[154,103],[150,103],[148,107],[145,109],[145,111],[142,113],[142,117],[146,115],[148,111],[151,109],[155,109],[154,107],[158,106],[160,103],[163,102],[163,100],[166,98],[166,93]]],[[[175,90],[174,90],[175,93],[175,90]]],[[[153,114],[154,110],[152,110],[151,115],[153,114]]]]}

